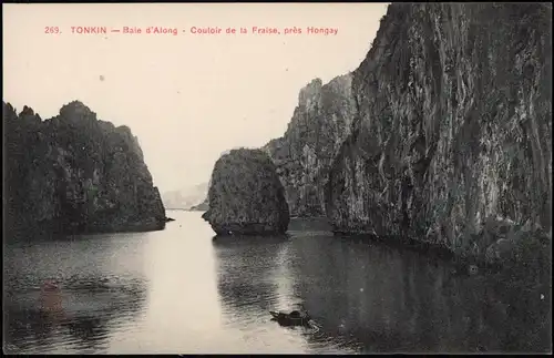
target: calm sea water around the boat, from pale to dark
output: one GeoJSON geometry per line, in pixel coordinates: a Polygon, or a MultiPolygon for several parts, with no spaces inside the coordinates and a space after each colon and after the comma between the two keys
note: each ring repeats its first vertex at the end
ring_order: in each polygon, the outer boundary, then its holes
{"type": "Polygon", "coordinates": [[[213,241],[201,214],[170,212],[162,232],[4,247],[4,351],[551,351],[551,289],[540,283],[454,276],[444,262],[312,224],[213,241]],[[44,311],[50,278],[61,309],[44,311]],[[299,307],[317,327],[270,320],[270,309],[299,307]]]}

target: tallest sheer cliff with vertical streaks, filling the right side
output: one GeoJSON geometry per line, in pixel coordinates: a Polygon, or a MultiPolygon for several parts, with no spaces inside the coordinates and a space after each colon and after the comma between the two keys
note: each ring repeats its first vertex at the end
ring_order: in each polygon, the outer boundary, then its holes
{"type": "Polygon", "coordinates": [[[389,6],[353,73],[335,229],[476,255],[507,232],[552,233],[551,19],[537,3],[389,6]]]}

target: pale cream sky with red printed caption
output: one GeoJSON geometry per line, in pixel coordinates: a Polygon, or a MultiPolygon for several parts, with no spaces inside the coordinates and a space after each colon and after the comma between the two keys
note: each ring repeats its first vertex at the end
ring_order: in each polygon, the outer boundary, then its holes
{"type": "Polygon", "coordinates": [[[3,101],[49,119],[79,100],[100,120],[127,125],[154,185],[167,192],[208,182],[229,149],[281,136],[302,86],[360,64],[387,4],[16,3],[2,10],[3,101]],[[79,27],[106,33],[79,33],[79,27]],[[142,32],[111,32],[123,27],[142,32]],[[146,33],[148,27],[178,32],[146,33]],[[192,33],[193,27],[222,32],[192,33]],[[226,33],[229,27],[236,33],[226,33]],[[301,33],[285,34],[295,27],[301,33]],[[337,32],[307,33],[308,27],[337,32]]]}

